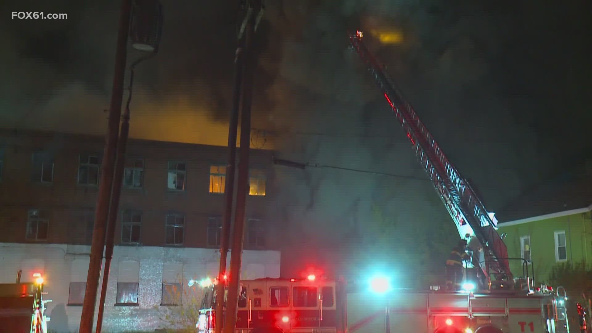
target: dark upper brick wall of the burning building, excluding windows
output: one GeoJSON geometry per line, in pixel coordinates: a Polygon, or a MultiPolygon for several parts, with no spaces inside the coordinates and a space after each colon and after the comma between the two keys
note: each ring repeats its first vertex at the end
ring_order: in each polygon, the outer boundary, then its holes
{"type": "MultiPolygon", "coordinates": [[[[98,186],[78,184],[79,157],[92,153],[100,158],[102,149],[102,137],[0,132],[0,242],[34,242],[25,239],[28,212],[34,209],[40,218],[49,221],[47,240],[41,242],[89,244],[91,232],[76,216],[84,210],[93,215],[98,186]],[[33,167],[34,152],[53,156],[51,182],[33,181],[40,172],[33,167]]],[[[166,214],[174,212],[185,216],[185,239],[181,245],[207,246],[208,217],[220,216],[224,205],[223,194],[210,193],[210,167],[226,164],[226,148],[131,140],[127,152],[127,161],[138,158],[144,163],[143,186],[124,187],[120,203],[120,209],[141,212],[139,244],[165,245],[166,214]],[[186,163],[183,191],[168,190],[170,161],[186,163]]],[[[246,217],[261,219],[265,223],[262,229],[273,233],[277,223],[268,216],[267,209],[274,197],[271,155],[253,149],[250,161],[252,169],[259,169],[266,176],[266,196],[247,197],[246,217]]],[[[121,217],[116,230],[116,244],[121,244],[121,217]]],[[[267,239],[270,242],[263,248],[274,248],[272,237],[267,239]]]]}

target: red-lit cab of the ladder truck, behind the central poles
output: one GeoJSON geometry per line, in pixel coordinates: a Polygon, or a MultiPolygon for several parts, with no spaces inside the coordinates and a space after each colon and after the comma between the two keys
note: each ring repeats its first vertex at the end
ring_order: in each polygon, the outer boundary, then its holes
{"type": "MultiPolygon", "coordinates": [[[[336,284],[315,276],[302,279],[258,278],[240,286],[236,332],[337,332],[336,284]]],[[[226,298],[226,297],[225,297],[226,298]]],[[[207,288],[197,324],[199,333],[214,331],[215,287],[207,288]]]]}

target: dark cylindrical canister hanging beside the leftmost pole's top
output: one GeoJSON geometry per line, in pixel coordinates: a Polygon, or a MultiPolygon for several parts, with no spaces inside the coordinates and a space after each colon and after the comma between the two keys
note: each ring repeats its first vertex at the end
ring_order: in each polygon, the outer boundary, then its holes
{"type": "Polygon", "coordinates": [[[162,4],[159,0],[134,0],[130,20],[131,46],[144,52],[156,52],[162,24],[162,4]]]}

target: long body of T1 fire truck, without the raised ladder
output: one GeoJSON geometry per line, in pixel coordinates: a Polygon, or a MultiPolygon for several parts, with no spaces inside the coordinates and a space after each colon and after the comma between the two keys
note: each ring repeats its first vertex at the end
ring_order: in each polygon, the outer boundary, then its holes
{"type": "MultiPolygon", "coordinates": [[[[565,290],[397,289],[308,276],[240,286],[236,333],[568,333],[565,290]]],[[[468,289],[468,288],[467,288],[468,289]]],[[[225,295],[226,296],[226,295],[225,295]]],[[[205,287],[198,333],[214,332],[215,288],[205,287]]]]}

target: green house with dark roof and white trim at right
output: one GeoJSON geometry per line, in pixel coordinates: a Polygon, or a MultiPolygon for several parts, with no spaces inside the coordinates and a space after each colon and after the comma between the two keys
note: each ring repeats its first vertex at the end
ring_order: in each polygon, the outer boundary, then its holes
{"type": "MultiPolygon", "coordinates": [[[[560,262],[592,264],[592,184],[585,178],[539,188],[498,214],[508,256],[529,261],[539,283],[560,262]]],[[[514,276],[523,276],[522,262],[510,266],[514,276]]]]}

